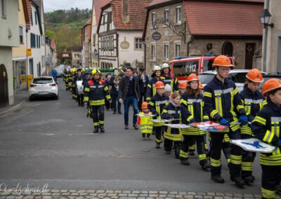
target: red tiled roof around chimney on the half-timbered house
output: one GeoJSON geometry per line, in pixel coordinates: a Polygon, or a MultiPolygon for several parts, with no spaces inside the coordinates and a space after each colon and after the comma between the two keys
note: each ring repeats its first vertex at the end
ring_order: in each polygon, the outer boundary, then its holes
{"type": "Polygon", "coordinates": [[[143,30],[146,16],[146,6],[150,0],[130,0],[129,23],[122,22],[122,0],[112,0],[112,18],[116,29],[143,30]]]}

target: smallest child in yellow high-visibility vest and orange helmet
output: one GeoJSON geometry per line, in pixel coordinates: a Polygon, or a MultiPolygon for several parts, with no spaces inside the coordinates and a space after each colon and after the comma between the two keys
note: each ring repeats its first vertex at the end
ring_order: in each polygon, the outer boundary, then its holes
{"type": "MultiPolygon", "coordinates": [[[[150,110],[148,109],[148,102],[143,102],[141,104],[141,109],[142,111],[139,113],[140,115],[144,114],[152,114],[150,110]]],[[[152,117],[138,117],[138,124],[141,127],[141,135],[143,137],[143,140],[149,139],[150,140],[150,135],[152,134],[153,130],[153,122],[150,121],[152,117]],[[146,136],[146,137],[145,137],[146,136]]]]}

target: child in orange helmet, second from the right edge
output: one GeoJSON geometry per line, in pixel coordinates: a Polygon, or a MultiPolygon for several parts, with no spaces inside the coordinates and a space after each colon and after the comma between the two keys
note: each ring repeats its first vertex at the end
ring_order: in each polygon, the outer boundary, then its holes
{"type": "MultiPolygon", "coordinates": [[[[263,96],[259,92],[259,85],[263,82],[263,75],[258,69],[251,69],[246,75],[247,81],[244,85],[244,90],[240,92],[242,102],[244,104],[244,110],[248,117],[248,121],[251,123],[254,120],[256,114],[263,108],[263,96]]],[[[251,132],[251,126],[249,124],[243,125],[241,128],[242,139],[253,137],[251,132]]],[[[242,179],[246,184],[254,183],[254,177],[252,176],[253,162],[256,157],[256,153],[250,151],[243,151],[242,153],[242,179]]]]}

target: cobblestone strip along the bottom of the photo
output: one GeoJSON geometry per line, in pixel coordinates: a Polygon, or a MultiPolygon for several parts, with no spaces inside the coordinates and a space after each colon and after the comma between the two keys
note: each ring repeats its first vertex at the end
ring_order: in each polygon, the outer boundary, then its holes
{"type": "MultiPolygon", "coordinates": [[[[190,191],[106,191],[106,190],[44,190],[41,192],[27,191],[0,191],[0,198],[2,199],[84,199],[84,198],[107,198],[107,199],[174,199],[174,198],[206,198],[206,199],[256,199],[261,198],[261,195],[241,194],[241,193],[205,193],[205,192],[190,192],[190,191]]],[[[280,198],[277,196],[276,198],[280,198]]]]}

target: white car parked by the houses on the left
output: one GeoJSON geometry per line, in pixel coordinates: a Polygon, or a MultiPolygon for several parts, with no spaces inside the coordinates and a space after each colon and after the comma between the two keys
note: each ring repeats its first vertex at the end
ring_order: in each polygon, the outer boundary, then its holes
{"type": "Polygon", "coordinates": [[[30,101],[35,97],[54,97],[58,99],[58,85],[51,76],[39,76],[30,83],[30,101]]]}

